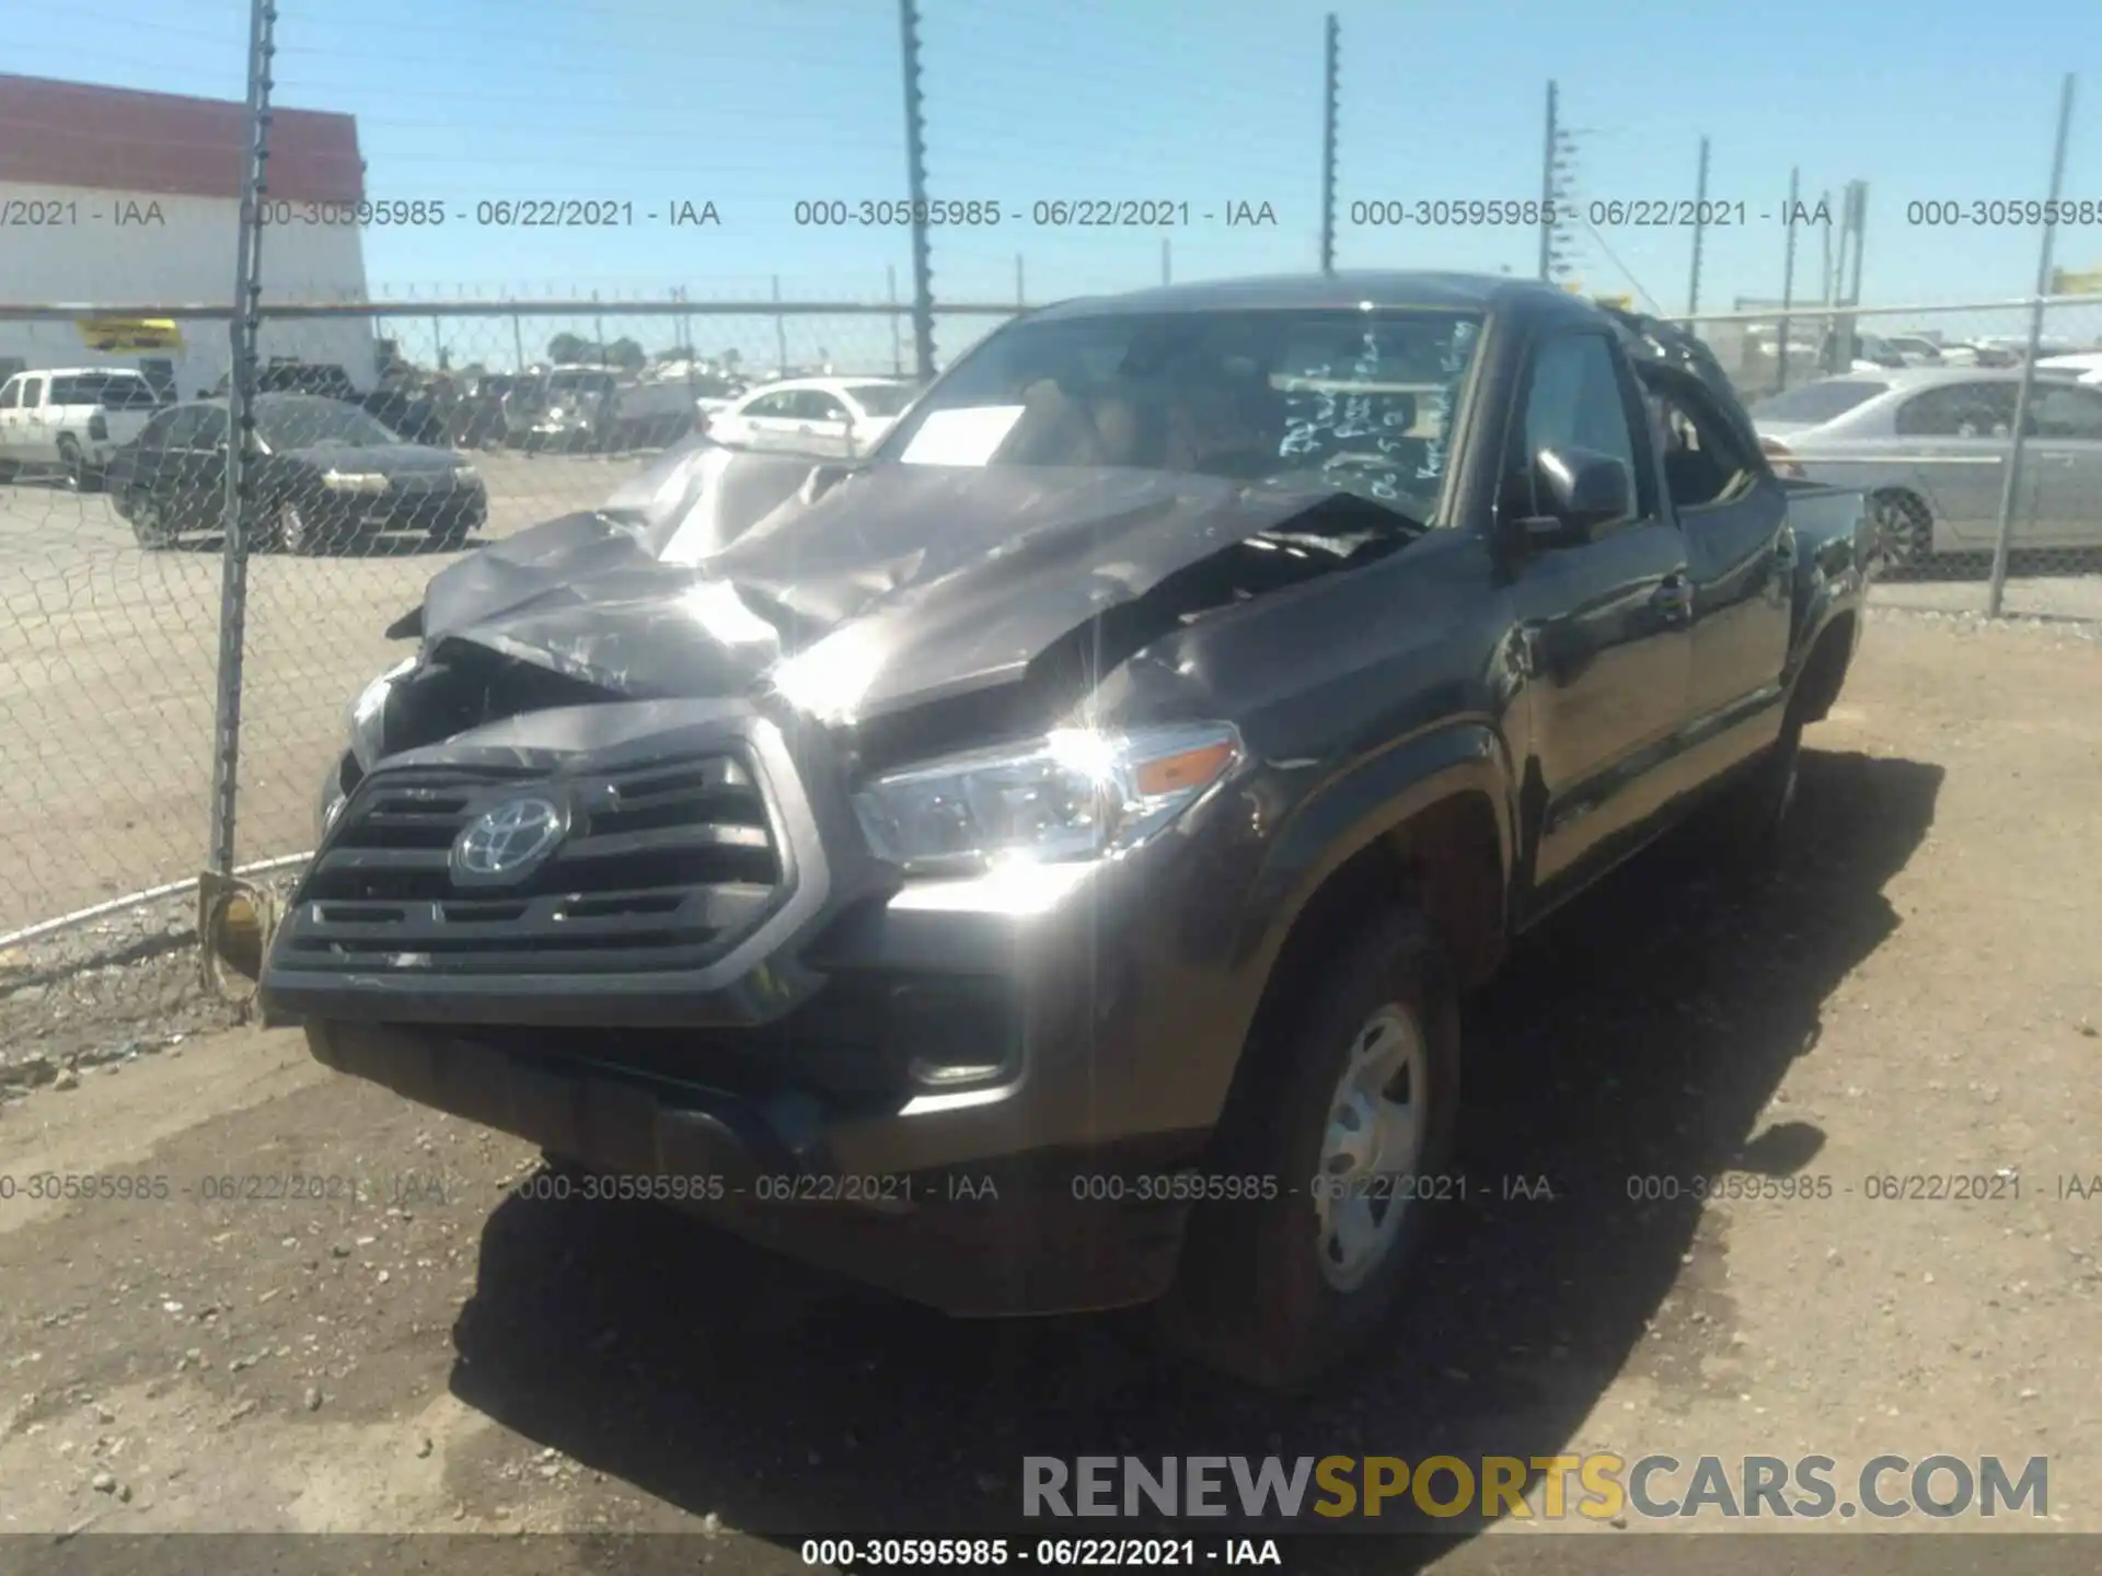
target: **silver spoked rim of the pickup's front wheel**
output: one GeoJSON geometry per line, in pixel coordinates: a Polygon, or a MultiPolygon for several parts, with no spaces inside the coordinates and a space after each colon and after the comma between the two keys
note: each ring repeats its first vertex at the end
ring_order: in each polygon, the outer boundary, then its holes
{"type": "Polygon", "coordinates": [[[1415,1013],[1387,1002],[1352,1036],[1322,1128],[1316,1257],[1335,1290],[1358,1290],[1392,1252],[1427,1116],[1429,1044],[1415,1013]]]}

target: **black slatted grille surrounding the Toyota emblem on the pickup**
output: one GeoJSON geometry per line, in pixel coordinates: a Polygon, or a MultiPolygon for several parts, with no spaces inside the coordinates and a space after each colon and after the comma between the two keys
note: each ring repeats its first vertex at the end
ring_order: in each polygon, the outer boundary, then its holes
{"type": "Polygon", "coordinates": [[[784,897],[765,792],[731,754],[547,775],[378,771],[288,916],[288,962],[387,973],[696,969],[784,897]],[[561,796],[570,834],[517,885],[460,887],[454,838],[515,794],[561,796]]]}

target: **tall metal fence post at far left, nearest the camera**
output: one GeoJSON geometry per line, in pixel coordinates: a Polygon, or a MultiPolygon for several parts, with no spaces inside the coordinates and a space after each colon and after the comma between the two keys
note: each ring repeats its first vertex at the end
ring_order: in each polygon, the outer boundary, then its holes
{"type": "Polygon", "coordinates": [[[269,61],[277,8],[248,6],[248,166],[233,265],[233,368],[227,378],[227,509],[219,548],[219,696],[212,721],[212,832],[206,874],[233,872],[242,761],[242,656],[248,630],[248,460],[254,454],[254,376],[263,305],[263,198],[269,191],[269,61]]]}

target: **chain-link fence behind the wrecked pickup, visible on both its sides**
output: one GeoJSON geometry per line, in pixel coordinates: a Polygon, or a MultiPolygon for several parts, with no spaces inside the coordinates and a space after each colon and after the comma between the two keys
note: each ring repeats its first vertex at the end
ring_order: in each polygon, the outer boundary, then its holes
{"type": "MultiPolygon", "coordinates": [[[[399,656],[383,630],[452,555],[601,504],[708,420],[811,456],[849,456],[881,435],[910,387],[904,313],[805,307],[267,313],[238,859],[309,847],[343,708],[399,656]],[[780,378],[837,389],[723,414],[780,378]]],[[[158,315],[185,340],[227,332],[225,313],[158,315]]],[[[961,349],[998,322],[994,309],[956,313],[944,343],[961,349]]],[[[2045,355],[2026,378],[2024,303],[1696,326],[1753,403],[1776,466],[1871,492],[1892,559],[1879,597],[1984,611],[2010,506],[2003,609],[2098,618],[2102,372],[2083,382],[2089,368],[2058,357],[2091,353],[2102,368],[2102,298],[2052,305],[2043,322],[2045,355]]],[[[198,868],[225,544],[227,406],[195,399],[210,393],[105,370],[46,387],[34,435],[21,422],[8,435],[0,826],[13,830],[0,832],[0,931],[198,868]],[[183,399],[168,403],[172,393],[183,399]]],[[[11,414],[21,418],[0,418],[11,414]]]]}

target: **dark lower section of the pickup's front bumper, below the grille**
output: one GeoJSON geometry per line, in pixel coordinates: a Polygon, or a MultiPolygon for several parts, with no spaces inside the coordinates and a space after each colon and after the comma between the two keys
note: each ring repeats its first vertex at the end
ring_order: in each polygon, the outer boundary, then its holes
{"type": "MultiPolygon", "coordinates": [[[[591,1055],[444,1030],[309,1023],[313,1055],[660,1198],[790,1259],[963,1318],[1160,1297],[1186,1204],[1108,1202],[1097,1177],[1162,1175],[1158,1145],[1030,1149],[1019,1091],[986,1105],[828,1107],[729,1093],[591,1055]]],[[[578,1185],[574,1202],[589,1194],[578,1185]]],[[[561,1194],[557,1194],[561,1200],[561,1194]]]]}

